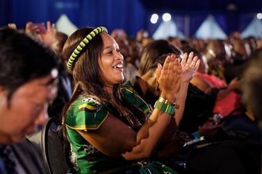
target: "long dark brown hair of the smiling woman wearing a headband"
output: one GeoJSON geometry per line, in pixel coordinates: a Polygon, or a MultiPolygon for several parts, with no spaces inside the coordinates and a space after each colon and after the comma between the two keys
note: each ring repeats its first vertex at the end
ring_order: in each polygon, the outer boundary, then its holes
{"type": "MultiPolygon", "coordinates": [[[[64,58],[68,60],[76,46],[93,30],[94,28],[81,28],[69,36],[63,48],[64,58]]],[[[69,103],[67,103],[63,109],[63,119],[65,119],[65,112],[67,112],[69,105],[71,105],[79,95],[84,95],[97,99],[102,105],[103,103],[113,105],[122,115],[122,118],[120,118],[122,121],[124,118],[131,124],[139,125],[141,121],[133,115],[133,112],[122,106],[123,99],[120,92],[120,84],[113,86],[113,95],[115,96],[117,104],[110,102],[110,95],[104,90],[104,81],[101,77],[101,70],[98,63],[103,48],[104,44],[101,35],[96,35],[88,43],[84,51],[80,53],[77,60],[75,60],[72,71],[75,86],[74,93],[69,103]]],[[[65,128],[65,124],[63,126],[65,128]]]]}

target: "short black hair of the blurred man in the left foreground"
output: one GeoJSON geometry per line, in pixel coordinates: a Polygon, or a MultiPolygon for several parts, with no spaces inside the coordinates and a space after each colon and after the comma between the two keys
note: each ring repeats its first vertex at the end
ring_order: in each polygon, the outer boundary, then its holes
{"type": "Polygon", "coordinates": [[[8,102],[26,82],[50,74],[58,67],[56,54],[27,35],[0,29],[0,86],[8,90],[8,102]]]}

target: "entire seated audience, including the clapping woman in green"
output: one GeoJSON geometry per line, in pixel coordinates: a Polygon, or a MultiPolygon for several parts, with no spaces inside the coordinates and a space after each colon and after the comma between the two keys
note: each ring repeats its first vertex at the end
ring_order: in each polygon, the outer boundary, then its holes
{"type": "Polygon", "coordinates": [[[261,49],[238,33],[0,28],[0,173],[50,172],[48,117],[61,122],[67,173],[261,173],[261,49]]]}

